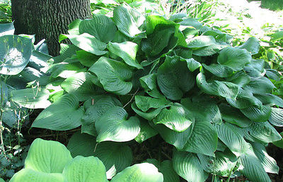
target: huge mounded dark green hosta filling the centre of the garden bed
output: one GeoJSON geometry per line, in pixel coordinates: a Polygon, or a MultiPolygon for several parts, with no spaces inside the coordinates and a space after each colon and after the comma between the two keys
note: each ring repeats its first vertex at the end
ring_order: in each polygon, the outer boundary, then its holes
{"type": "Polygon", "coordinates": [[[98,157],[114,180],[135,159],[131,147],[152,139],[158,152],[143,160],[164,181],[270,181],[267,173],[278,173],[265,146],[282,139],[274,126],[283,126],[283,100],[272,95],[265,61],[253,59],[254,37],[231,47],[233,37],[185,14],[166,19],[118,6],[112,18],[75,20],[65,39],[72,44],[53,58],[42,99],[25,104],[52,102],[33,128],[81,126],[68,144],[73,157],[98,157]],[[55,88],[63,91],[50,95],[55,88]]]}

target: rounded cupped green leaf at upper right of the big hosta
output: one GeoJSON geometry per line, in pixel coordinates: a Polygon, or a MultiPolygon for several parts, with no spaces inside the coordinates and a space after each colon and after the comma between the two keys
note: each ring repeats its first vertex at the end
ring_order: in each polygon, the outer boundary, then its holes
{"type": "Polygon", "coordinates": [[[219,52],[217,62],[229,66],[234,71],[240,71],[251,59],[252,56],[246,49],[226,47],[219,52]]]}

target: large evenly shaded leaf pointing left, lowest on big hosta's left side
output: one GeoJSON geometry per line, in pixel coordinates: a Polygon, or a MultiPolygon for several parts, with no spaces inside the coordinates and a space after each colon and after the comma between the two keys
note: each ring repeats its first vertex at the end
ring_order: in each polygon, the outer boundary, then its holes
{"type": "Polygon", "coordinates": [[[81,126],[83,107],[75,95],[64,95],[43,110],[33,121],[32,127],[67,131],[81,126]]]}

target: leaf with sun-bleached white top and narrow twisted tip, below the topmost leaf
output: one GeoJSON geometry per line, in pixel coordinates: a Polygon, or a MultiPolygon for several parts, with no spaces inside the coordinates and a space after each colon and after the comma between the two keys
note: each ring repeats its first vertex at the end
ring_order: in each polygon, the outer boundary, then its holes
{"type": "Polygon", "coordinates": [[[122,42],[122,43],[108,43],[108,50],[120,58],[129,66],[141,69],[142,66],[137,62],[136,55],[138,51],[138,45],[134,42],[122,42]]]}

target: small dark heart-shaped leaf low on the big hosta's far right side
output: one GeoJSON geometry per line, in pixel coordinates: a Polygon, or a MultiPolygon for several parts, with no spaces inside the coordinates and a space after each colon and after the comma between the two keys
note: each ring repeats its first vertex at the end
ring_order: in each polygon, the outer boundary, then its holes
{"type": "Polygon", "coordinates": [[[256,122],[265,122],[271,115],[271,107],[269,106],[262,106],[261,109],[255,106],[250,106],[240,110],[246,117],[248,117],[248,119],[256,122]]]}

